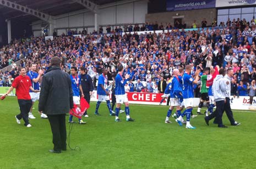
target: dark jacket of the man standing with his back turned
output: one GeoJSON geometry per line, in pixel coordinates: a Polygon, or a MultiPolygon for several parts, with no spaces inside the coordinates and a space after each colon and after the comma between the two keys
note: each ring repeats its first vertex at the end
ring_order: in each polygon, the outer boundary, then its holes
{"type": "Polygon", "coordinates": [[[69,113],[73,108],[73,91],[70,76],[59,67],[51,67],[43,75],[39,111],[46,115],[69,113]]]}

